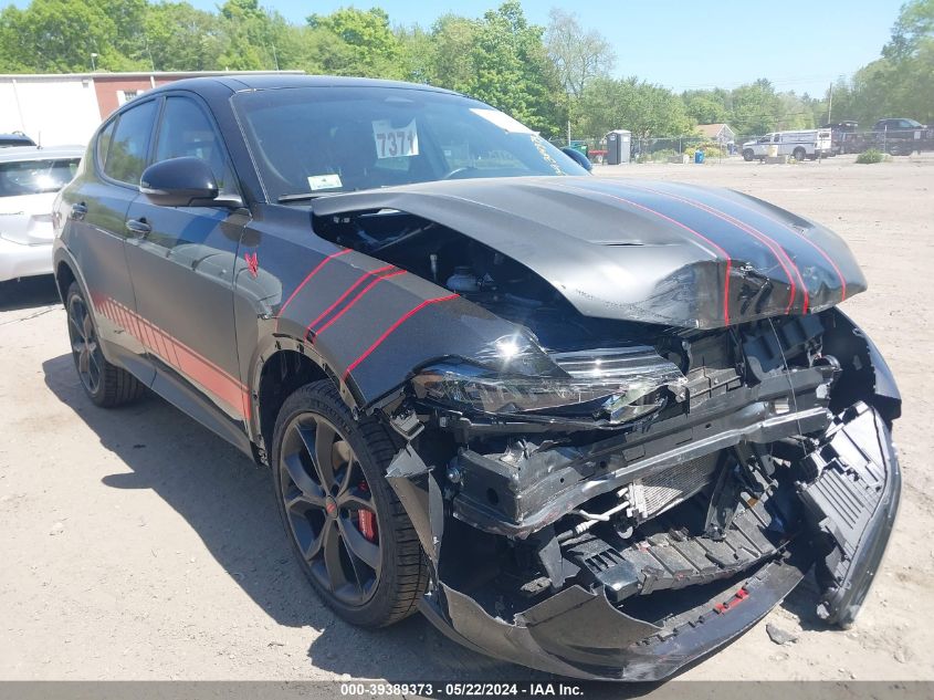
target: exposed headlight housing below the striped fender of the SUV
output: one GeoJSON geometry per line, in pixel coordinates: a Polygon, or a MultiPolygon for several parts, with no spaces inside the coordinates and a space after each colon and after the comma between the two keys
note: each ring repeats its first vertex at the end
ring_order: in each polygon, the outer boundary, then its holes
{"type": "MultiPolygon", "coordinates": [[[[507,354],[513,351],[508,344],[505,348],[507,354]]],[[[513,370],[513,362],[504,363],[501,370],[466,361],[439,363],[419,373],[412,385],[420,399],[462,411],[564,415],[620,424],[657,410],[664,404],[665,389],[678,393],[685,382],[674,364],[650,347],[553,353],[546,357],[547,367],[541,359],[534,364],[547,372],[534,375],[513,370]]]]}

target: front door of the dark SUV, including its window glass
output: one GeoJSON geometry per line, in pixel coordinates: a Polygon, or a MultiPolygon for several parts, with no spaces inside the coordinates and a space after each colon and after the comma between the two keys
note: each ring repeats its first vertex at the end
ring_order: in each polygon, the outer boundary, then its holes
{"type": "MultiPolygon", "coordinates": [[[[221,195],[238,195],[223,139],[193,95],[165,97],[153,163],[201,158],[221,195]]],[[[156,366],[153,388],[241,443],[245,389],[233,322],[237,248],[249,213],[229,206],[165,207],[139,195],[126,215],[127,261],[156,366]]]]}

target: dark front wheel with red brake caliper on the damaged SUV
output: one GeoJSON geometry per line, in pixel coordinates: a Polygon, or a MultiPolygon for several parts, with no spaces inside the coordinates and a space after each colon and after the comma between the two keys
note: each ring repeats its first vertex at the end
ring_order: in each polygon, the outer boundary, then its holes
{"type": "Polygon", "coordinates": [[[428,581],[418,536],[384,474],[396,450],[375,419],[355,420],[328,379],[290,396],[276,419],[276,503],[303,573],[360,627],[417,609],[428,581]]]}

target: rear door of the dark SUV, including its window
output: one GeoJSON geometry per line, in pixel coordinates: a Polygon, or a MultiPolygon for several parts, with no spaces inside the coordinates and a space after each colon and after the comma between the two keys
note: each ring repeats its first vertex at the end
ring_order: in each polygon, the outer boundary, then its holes
{"type": "Polygon", "coordinates": [[[136,297],[126,259],[126,212],[139,194],[158,108],[143,100],[114,116],[76,179],[63,191],[63,238],[94,307],[104,355],[148,385],[155,376],[135,323],[136,297]]]}

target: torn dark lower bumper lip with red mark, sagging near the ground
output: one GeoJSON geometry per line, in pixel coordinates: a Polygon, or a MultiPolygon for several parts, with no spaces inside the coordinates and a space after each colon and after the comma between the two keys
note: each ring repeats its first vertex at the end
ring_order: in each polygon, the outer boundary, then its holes
{"type": "Polygon", "coordinates": [[[742,585],[680,616],[673,628],[630,617],[600,593],[562,591],[517,615],[487,615],[472,598],[443,586],[422,613],[453,640],[542,671],[590,680],[655,681],[742,635],[790,593],[809,562],[776,561],[742,585]]]}

